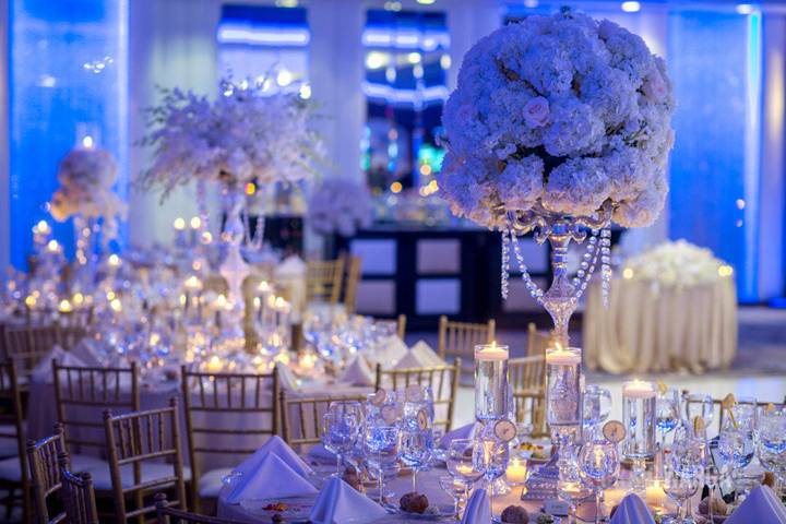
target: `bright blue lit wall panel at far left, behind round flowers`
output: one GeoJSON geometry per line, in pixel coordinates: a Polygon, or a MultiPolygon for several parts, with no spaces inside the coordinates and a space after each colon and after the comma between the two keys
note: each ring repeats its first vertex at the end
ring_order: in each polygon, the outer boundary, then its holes
{"type": "MultiPolygon", "coordinates": [[[[11,261],[24,267],[31,228],[57,189],[59,160],[78,128],[120,168],[127,191],[127,0],[11,0],[11,261]],[[102,66],[103,64],[103,66],[102,66]]],[[[72,251],[70,223],[55,235],[72,251]]],[[[121,230],[121,242],[122,242],[121,230]]]]}

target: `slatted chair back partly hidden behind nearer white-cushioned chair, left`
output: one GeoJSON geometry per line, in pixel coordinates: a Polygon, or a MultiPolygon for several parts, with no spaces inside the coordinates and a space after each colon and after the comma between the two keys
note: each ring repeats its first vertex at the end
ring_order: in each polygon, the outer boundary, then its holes
{"type": "Polygon", "coordinates": [[[140,410],[139,370],[62,366],[52,361],[58,421],[66,426],[71,452],[105,450],[100,408],[115,413],[140,410]]]}

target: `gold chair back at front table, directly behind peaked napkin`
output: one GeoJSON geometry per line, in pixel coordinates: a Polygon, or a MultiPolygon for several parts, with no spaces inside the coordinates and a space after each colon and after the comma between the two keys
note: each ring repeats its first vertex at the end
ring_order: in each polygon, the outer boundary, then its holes
{"type": "Polygon", "coordinates": [[[322,416],[331,402],[366,401],[366,395],[324,395],[298,397],[281,395],[282,436],[291,448],[302,451],[303,446],[318,444],[322,438],[322,416]]]}

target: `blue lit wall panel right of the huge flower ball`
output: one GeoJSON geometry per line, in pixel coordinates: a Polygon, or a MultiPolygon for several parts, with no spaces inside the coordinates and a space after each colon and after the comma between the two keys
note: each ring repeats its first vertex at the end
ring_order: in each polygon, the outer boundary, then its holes
{"type": "Polygon", "coordinates": [[[759,157],[751,140],[751,116],[759,110],[750,69],[759,60],[755,24],[757,17],[712,12],[672,13],[668,24],[668,67],[678,100],[670,237],[707,247],[733,264],[742,299],[755,296],[750,241],[758,201],[758,166],[751,164],[759,157]]]}

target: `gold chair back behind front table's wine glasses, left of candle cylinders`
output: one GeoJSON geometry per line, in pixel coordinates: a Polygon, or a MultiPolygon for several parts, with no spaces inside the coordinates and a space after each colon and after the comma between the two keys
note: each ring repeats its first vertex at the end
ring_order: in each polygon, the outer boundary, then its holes
{"type": "Polygon", "coordinates": [[[445,406],[445,418],[434,418],[434,427],[441,427],[448,432],[453,427],[453,409],[461,370],[461,358],[456,358],[452,365],[427,368],[382,369],[382,365],[378,364],[374,388],[393,391],[403,390],[409,384],[431,388],[434,414],[439,416],[440,406],[445,406]]]}

